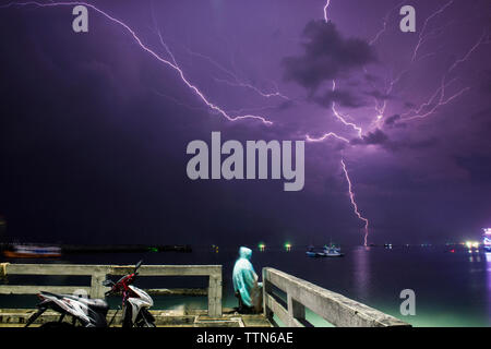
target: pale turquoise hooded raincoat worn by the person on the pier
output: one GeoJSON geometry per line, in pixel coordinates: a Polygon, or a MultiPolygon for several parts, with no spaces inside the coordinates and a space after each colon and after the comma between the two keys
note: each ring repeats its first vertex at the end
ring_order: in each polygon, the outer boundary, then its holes
{"type": "Polygon", "coordinates": [[[258,287],[258,275],[251,263],[252,251],[248,248],[240,248],[239,258],[233,266],[233,290],[240,293],[242,302],[248,306],[253,306],[252,292],[258,287]]]}

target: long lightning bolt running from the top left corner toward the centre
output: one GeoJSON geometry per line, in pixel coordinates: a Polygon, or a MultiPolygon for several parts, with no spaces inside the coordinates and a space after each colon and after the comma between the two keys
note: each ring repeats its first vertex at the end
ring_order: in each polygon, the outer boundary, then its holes
{"type": "MultiPolygon", "coordinates": [[[[10,2],[10,3],[5,4],[5,5],[1,5],[0,9],[11,8],[11,7],[27,7],[27,5],[34,5],[34,7],[39,7],[39,8],[67,7],[67,5],[72,7],[72,5],[77,5],[77,4],[84,5],[84,7],[87,7],[87,8],[92,9],[92,10],[94,10],[95,12],[97,12],[100,15],[103,15],[104,17],[109,20],[110,22],[112,22],[112,23],[119,25],[120,27],[122,27],[133,38],[133,40],[140,46],[140,48],[142,50],[144,50],[145,52],[151,55],[153,58],[155,58],[160,63],[163,63],[165,65],[168,65],[172,70],[175,70],[185,86],[188,86],[211,110],[221,115],[228,121],[238,121],[238,120],[244,120],[244,119],[253,119],[253,120],[259,120],[262,123],[267,124],[267,125],[273,124],[272,121],[270,121],[270,120],[267,120],[267,119],[265,119],[264,117],[261,117],[261,116],[253,116],[253,115],[230,116],[230,115],[228,115],[224,109],[221,109],[217,105],[211,103],[207,99],[207,97],[194,84],[192,84],[185,77],[184,72],[176,63],[176,61],[173,59],[172,59],[172,61],[169,61],[169,60],[163,58],[161,56],[159,56],[157,52],[155,52],[148,46],[146,46],[143,43],[143,40],[136,35],[136,33],[128,24],[125,24],[121,20],[118,20],[118,19],[111,16],[107,12],[100,10],[99,8],[97,8],[97,7],[95,7],[95,5],[91,4],[91,3],[83,2],[83,1],[49,2],[49,3],[43,3],[43,2],[37,2],[37,1],[25,1],[25,2],[10,2]]],[[[170,52],[170,51],[168,51],[168,52],[170,52]]],[[[172,57],[172,55],[170,55],[170,56],[172,57]]]]}

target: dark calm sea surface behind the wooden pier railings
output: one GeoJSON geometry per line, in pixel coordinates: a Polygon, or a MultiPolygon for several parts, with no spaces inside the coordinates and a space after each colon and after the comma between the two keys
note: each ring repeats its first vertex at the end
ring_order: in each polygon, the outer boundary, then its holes
{"type": "MultiPolygon", "coordinates": [[[[224,267],[224,305],[236,306],[231,286],[231,269],[237,250],[220,248],[195,249],[192,253],[124,253],[68,255],[56,261],[9,261],[12,263],[83,263],[83,264],[221,264],[224,267]]],[[[351,248],[342,258],[309,258],[303,249],[254,251],[253,265],[283,272],[339,292],[415,326],[490,326],[491,325],[491,254],[482,251],[469,253],[465,249],[448,252],[446,246],[410,248],[351,248]],[[403,316],[399,293],[412,289],[416,293],[416,315],[403,316]]],[[[115,277],[116,278],[116,277],[115,277]]],[[[10,284],[83,285],[88,278],[77,277],[13,277],[10,284]]],[[[202,277],[163,277],[136,280],[140,287],[206,287],[202,277]]],[[[31,308],[32,296],[1,296],[0,308],[31,308]]],[[[203,297],[172,297],[155,299],[155,308],[206,306],[203,297]]],[[[116,306],[119,300],[111,299],[116,306]]],[[[308,312],[315,325],[326,325],[308,312]]]]}

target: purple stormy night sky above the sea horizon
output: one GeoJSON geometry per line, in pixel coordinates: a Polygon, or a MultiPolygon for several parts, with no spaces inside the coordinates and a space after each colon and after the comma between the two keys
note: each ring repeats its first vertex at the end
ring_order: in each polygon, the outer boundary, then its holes
{"type": "Polygon", "coordinates": [[[462,241],[491,226],[489,0],[332,0],[326,16],[322,0],[87,2],[171,64],[93,8],[75,34],[73,5],[9,3],[0,215],[11,240],[360,244],[342,159],[369,243],[462,241]],[[399,29],[403,4],[416,33],[399,29]],[[227,116],[272,124],[227,120],[176,67],[227,116]],[[318,141],[306,141],[303,190],[188,179],[185,147],[212,131],[318,141]]]}

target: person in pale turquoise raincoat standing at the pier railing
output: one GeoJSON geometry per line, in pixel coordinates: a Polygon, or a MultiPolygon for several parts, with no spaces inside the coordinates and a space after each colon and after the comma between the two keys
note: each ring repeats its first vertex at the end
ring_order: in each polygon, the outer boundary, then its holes
{"type": "Polygon", "coordinates": [[[244,313],[260,312],[262,306],[262,282],[258,282],[251,256],[251,249],[241,246],[232,274],[233,291],[239,299],[239,312],[244,313]]]}

